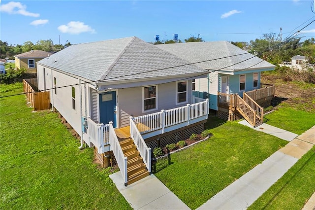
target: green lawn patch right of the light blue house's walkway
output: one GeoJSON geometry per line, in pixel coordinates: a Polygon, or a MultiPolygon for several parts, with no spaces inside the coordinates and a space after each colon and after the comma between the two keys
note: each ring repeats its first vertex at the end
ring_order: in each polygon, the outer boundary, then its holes
{"type": "Polygon", "coordinates": [[[264,116],[265,123],[295,134],[302,134],[315,125],[314,113],[297,110],[287,105],[280,106],[264,116]]]}

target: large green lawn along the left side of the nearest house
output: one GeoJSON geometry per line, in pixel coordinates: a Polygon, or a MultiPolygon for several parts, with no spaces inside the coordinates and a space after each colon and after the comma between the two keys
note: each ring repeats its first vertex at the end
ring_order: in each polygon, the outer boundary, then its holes
{"type": "MultiPolygon", "coordinates": [[[[22,91],[0,85],[0,96],[22,91]]],[[[0,209],[131,209],[60,121],[32,113],[24,95],[0,98],[0,209]]]]}

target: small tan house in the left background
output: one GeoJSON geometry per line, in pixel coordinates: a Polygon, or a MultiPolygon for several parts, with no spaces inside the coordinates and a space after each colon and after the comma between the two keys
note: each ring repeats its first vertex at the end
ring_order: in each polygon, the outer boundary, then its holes
{"type": "Polygon", "coordinates": [[[36,62],[52,54],[52,52],[45,52],[42,50],[31,50],[29,52],[15,55],[15,68],[18,70],[24,67],[27,70],[27,73],[36,73],[36,62]]]}

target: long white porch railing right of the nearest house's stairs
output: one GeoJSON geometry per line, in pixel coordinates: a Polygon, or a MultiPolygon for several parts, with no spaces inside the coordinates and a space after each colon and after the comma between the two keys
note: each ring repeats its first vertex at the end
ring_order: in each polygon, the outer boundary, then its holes
{"type": "Polygon", "coordinates": [[[182,124],[182,127],[184,127],[198,122],[195,119],[200,117],[207,119],[209,114],[209,99],[194,97],[193,101],[197,103],[134,117],[133,122],[140,134],[158,130],[161,130],[160,133],[163,134],[166,132],[165,128],[179,124],[182,124]]]}

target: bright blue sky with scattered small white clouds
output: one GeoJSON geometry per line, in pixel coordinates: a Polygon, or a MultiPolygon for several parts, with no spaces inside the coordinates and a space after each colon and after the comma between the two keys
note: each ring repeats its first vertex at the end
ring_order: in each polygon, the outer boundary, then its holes
{"type": "MultiPolygon", "coordinates": [[[[314,0],[1,0],[0,39],[58,44],[60,36],[60,44],[75,44],[129,36],[150,42],[173,34],[184,41],[200,34],[206,41],[250,41],[278,35],[280,27],[285,38],[315,19],[311,5],[314,11],[314,0]]],[[[315,22],[298,36],[315,37],[315,22]]]]}

